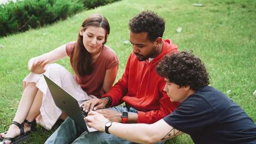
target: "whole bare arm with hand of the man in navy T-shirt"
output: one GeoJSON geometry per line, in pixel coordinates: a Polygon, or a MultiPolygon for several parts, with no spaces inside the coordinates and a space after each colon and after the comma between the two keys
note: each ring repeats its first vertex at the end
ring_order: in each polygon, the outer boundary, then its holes
{"type": "Polygon", "coordinates": [[[183,134],[183,132],[174,129],[163,119],[154,124],[122,124],[112,122],[112,125],[109,126],[106,124],[111,120],[96,111],[91,111],[88,116],[85,117],[85,120],[89,126],[99,131],[109,132],[112,135],[136,143],[155,143],[183,134]],[[106,126],[108,127],[107,131],[106,126]]]}

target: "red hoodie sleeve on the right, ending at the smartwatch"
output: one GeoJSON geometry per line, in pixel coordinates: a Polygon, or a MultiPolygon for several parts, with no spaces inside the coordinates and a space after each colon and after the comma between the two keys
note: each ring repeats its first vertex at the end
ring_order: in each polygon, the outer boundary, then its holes
{"type": "Polygon", "coordinates": [[[163,91],[162,94],[163,97],[160,99],[160,109],[151,110],[149,112],[138,111],[137,123],[153,124],[172,113],[180,105],[179,102],[171,102],[165,91],[163,91]]]}

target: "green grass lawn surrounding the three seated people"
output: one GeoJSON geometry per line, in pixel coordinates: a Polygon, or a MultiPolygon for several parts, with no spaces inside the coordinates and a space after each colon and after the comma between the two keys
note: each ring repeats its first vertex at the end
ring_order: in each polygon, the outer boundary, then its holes
{"type": "MultiPolygon", "coordinates": [[[[171,38],[180,50],[192,50],[201,57],[210,73],[210,85],[226,93],[256,121],[255,0],[123,0],[50,26],[0,38],[0,132],[8,129],[15,116],[22,80],[29,72],[28,60],[76,40],[82,21],[90,14],[101,13],[110,22],[107,45],[119,56],[119,79],[131,52],[131,45],[123,43],[129,40],[128,20],[144,9],[165,18],[164,38],[171,38]],[[176,33],[178,27],[183,28],[181,33],[176,33]]],[[[68,58],[57,63],[72,71],[68,58]]],[[[56,127],[47,131],[37,126],[27,144],[42,144],[56,127]]],[[[192,143],[189,135],[181,135],[167,144],[192,143]]]]}

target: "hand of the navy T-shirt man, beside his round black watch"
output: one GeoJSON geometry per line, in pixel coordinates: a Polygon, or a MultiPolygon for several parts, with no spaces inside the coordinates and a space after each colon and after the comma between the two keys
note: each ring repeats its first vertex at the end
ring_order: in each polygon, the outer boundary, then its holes
{"type": "Polygon", "coordinates": [[[87,124],[94,129],[97,129],[101,132],[105,131],[105,124],[109,121],[102,114],[95,111],[90,111],[87,117],[84,117],[84,120],[87,121],[87,124]]]}

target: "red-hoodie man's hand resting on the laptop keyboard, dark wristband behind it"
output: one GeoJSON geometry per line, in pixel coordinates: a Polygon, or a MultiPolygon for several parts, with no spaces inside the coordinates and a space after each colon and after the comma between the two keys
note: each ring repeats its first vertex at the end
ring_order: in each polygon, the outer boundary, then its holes
{"type": "Polygon", "coordinates": [[[107,104],[108,104],[108,99],[94,98],[94,99],[84,101],[80,105],[80,107],[82,107],[85,112],[89,112],[89,111],[92,111],[92,110],[95,111],[97,109],[105,108],[107,104]]]}

